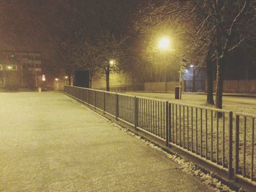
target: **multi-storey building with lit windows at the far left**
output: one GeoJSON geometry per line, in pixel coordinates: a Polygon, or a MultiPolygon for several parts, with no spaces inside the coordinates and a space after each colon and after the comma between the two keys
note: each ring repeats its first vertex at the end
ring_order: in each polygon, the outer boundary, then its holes
{"type": "Polygon", "coordinates": [[[41,71],[41,53],[0,51],[0,88],[37,88],[41,71]]]}

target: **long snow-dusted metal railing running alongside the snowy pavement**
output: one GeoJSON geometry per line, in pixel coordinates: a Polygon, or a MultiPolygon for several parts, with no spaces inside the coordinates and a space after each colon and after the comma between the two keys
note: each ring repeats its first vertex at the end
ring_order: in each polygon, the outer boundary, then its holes
{"type": "Polygon", "coordinates": [[[64,92],[226,172],[229,178],[256,186],[256,116],[235,113],[234,118],[227,110],[73,86],[65,86],[64,92]]]}

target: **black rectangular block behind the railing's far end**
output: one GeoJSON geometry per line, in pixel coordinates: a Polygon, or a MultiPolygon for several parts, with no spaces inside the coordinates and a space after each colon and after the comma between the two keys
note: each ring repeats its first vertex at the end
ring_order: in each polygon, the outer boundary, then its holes
{"type": "Polygon", "coordinates": [[[74,85],[82,88],[89,88],[89,71],[75,71],[74,85]]]}

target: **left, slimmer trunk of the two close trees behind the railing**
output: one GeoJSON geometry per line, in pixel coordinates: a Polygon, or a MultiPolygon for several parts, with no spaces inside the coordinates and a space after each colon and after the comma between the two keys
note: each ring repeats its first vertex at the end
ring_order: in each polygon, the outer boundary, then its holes
{"type": "Polygon", "coordinates": [[[207,71],[207,103],[214,105],[214,75],[213,66],[210,58],[206,59],[206,71],[207,71]]]}

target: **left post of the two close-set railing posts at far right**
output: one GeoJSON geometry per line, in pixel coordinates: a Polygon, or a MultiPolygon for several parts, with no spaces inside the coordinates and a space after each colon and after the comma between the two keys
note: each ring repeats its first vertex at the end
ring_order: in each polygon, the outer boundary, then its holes
{"type": "Polygon", "coordinates": [[[228,136],[228,177],[233,177],[233,112],[229,112],[229,136],[228,136]]]}

